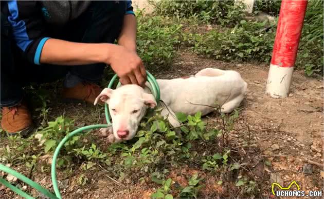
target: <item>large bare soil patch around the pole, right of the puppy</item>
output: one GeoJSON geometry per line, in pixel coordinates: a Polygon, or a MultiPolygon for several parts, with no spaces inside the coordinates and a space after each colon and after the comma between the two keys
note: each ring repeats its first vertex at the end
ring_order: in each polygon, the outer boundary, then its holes
{"type": "MultiPolygon", "coordinates": [[[[193,75],[212,67],[236,70],[248,83],[247,95],[231,137],[242,146],[246,146],[247,140],[250,147],[260,147],[261,153],[251,155],[264,157],[266,163],[251,165],[256,176],[267,172],[270,176],[268,185],[277,180],[283,182],[282,186],[288,186],[295,180],[306,192],[323,190],[320,174],[323,170],[324,125],[321,79],[306,77],[303,71],[297,70],[289,97],[275,99],[264,92],[268,73],[265,64],[224,63],[189,52],[180,55],[169,71],[163,71],[157,77],[193,75]]],[[[209,118],[214,119],[213,116],[209,118]]],[[[271,193],[271,187],[268,190],[271,193]]]]}

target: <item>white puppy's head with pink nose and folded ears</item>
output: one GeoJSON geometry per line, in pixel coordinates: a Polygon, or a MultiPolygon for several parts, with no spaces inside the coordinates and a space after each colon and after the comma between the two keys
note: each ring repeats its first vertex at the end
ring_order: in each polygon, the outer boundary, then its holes
{"type": "Polygon", "coordinates": [[[157,105],[154,96],[137,85],[124,85],[115,90],[105,88],[97,96],[95,105],[99,99],[109,104],[114,136],[117,140],[131,140],[147,108],[157,105]]]}

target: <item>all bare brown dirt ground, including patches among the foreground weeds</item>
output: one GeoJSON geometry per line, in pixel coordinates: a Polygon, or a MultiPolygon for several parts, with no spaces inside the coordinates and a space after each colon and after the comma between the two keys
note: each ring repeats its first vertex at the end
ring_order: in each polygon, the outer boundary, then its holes
{"type": "MultiPolygon", "coordinates": [[[[179,52],[173,66],[168,69],[152,71],[156,78],[175,78],[192,75],[207,67],[236,70],[248,83],[248,92],[241,106],[235,130],[230,134],[238,146],[259,149],[257,153],[247,153],[243,147],[238,149],[242,156],[252,161],[251,170],[255,178],[264,178],[262,198],[272,197],[271,183],[279,182],[288,186],[292,181],[299,182],[301,190],[323,190],[323,84],[321,79],[309,78],[303,71],[295,71],[291,94],[287,98],[274,99],[264,93],[268,66],[266,64],[224,63],[201,58],[190,52],[179,52]],[[248,140],[248,143],[246,143],[248,140]],[[255,156],[255,158],[254,158],[255,156]]],[[[86,105],[51,105],[53,118],[66,115],[83,118],[79,125],[98,124],[102,113],[86,105]]],[[[51,120],[51,118],[50,118],[51,120]]],[[[216,115],[210,114],[205,120],[209,125],[217,125],[216,115]]],[[[192,169],[173,171],[170,177],[174,182],[186,184],[185,173],[192,169]]],[[[109,177],[96,173],[88,186],[80,188],[76,183],[79,175],[67,180],[64,173],[59,174],[63,188],[63,198],[150,198],[154,187],[147,183],[120,184],[109,177]],[[64,179],[64,180],[62,180],[64,179]]],[[[134,174],[136,175],[136,174],[134,174]]],[[[206,192],[228,192],[222,190],[214,176],[205,176],[206,192]]],[[[33,180],[49,188],[50,176],[46,173],[34,174],[33,180]]],[[[147,179],[147,181],[150,181],[147,179]]],[[[0,187],[1,192],[1,187],[0,187]]],[[[223,194],[224,195],[224,194],[223,194]]],[[[19,198],[5,194],[9,198],[19,198]]],[[[228,195],[228,197],[235,197],[228,195]]]]}

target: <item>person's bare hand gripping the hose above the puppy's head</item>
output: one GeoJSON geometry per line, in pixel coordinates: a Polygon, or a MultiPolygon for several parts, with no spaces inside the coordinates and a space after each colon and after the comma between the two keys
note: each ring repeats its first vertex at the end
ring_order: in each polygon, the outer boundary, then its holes
{"type": "Polygon", "coordinates": [[[113,45],[112,49],[106,64],[119,76],[120,83],[143,87],[146,82],[146,70],[136,52],[118,45],[113,45]]]}

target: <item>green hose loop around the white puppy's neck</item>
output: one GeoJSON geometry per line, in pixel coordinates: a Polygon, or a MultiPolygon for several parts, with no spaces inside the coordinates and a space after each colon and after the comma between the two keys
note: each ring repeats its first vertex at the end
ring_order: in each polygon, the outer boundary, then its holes
{"type": "MultiPolygon", "coordinates": [[[[150,83],[151,85],[151,92],[152,94],[154,95],[155,97],[155,100],[156,100],[156,103],[159,103],[160,101],[160,88],[156,82],[156,79],[155,77],[149,73],[149,71],[146,71],[146,74],[147,74],[147,80],[148,82],[150,83]]],[[[111,79],[109,85],[107,88],[112,88],[114,82],[116,81],[117,79],[117,74],[115,74],[113,76],[113,78],[111,79]]],[[[118,83],[117,87],[120,85],[120,82],[118,83]]],[[[106,116],[106,121],[107,121],[107,124],[111,125],[111,122],[110,122],[110,113],[109,113],[109,109],[108,109],[108,105],[107,103],[104,104],[104,113],[105,113],[105,116],[106,116]]]]}

